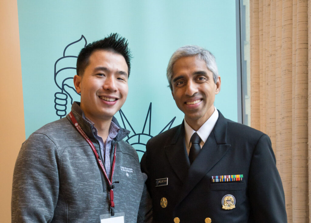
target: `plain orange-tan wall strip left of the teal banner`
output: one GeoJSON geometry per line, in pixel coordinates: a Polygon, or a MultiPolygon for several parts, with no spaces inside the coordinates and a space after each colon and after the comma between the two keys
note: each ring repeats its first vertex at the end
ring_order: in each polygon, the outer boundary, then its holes
{"type": "Polygon", "coordinates": [[[14,164],[25,141],[17,0],[0,1],[0,221],[11,222],[14,164]]]}

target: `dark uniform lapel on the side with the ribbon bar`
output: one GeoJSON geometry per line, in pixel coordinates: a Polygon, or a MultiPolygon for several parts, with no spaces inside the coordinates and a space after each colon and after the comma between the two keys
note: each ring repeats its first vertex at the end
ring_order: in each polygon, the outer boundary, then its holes
{"type": "Polygon", "coordinates": [[[214,129],[208,136],[200,153],[189,168],[179,203],[190,193],[200,180],[226,154],[230,144],[226,144],[227,119],[219,112],[214,129]]]}

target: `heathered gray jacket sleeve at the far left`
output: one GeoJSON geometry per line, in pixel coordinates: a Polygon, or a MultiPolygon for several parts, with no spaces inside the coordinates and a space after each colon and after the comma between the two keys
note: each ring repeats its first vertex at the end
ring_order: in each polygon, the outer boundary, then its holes
{"type": "Polygon", "coordinates": [[[50,222],[58,199],[59,155],[44,134],[32,134],[18,154],[12,185],[12,223],[50,222]]]}

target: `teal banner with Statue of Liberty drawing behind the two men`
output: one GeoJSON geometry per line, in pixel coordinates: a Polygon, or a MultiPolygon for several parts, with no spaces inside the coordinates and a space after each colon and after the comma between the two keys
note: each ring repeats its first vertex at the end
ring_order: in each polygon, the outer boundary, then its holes
{"type": "Polygon", "coordinates": [[[236,9],[233,0],[18,0],[26,138],[64,117],[72,101],[77,55],[117,32],[133,59],[128,98],[116,114],[141,158],[151,137],[179,125],[166,67],[179,47],[195,44],[216,57],[221,91],[215,106],[237,121],[236,9]]]}

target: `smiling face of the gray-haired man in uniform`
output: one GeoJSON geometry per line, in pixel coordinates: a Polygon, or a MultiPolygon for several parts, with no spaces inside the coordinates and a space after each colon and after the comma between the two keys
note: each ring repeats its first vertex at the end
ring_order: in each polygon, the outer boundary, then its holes
{"type": "Polygon", "coordinates": [[[220,77],[215,84],[206,62],[195,56],[182,57],[173,66],[172,95],[185,120],[197,131],[215,111],[215,94],[220,91],[220,77]]]}

